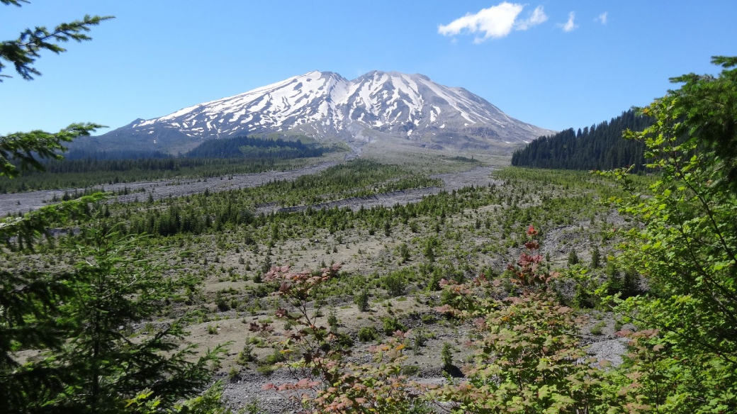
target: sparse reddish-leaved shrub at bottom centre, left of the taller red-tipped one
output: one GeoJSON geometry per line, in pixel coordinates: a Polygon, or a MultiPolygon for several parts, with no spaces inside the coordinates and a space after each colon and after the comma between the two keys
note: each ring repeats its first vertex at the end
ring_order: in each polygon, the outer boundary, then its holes
{"type": "MultiPolygon", "coordinates": [[[[337,332],[320,326],[316,315],[321,304],[321,284],[335,276],[340,264],[321,273],[290,272],[289,267],[272,267],[265,280],[279,283],[279,295],[292,307],[277,309],[275,315],[290,321],[285,340],[275,343],[284,354],[301,355],[279,366],[289,369],[296,382],[267,384],[287,398],[299,401],[312,413],[406,413],[416,401],[419,387],[403,376],[405,357],[402,341],[406,333],[397,331],[388,343],[371,347],[374,363],[346,363],[349,354],[337,346],[337,332]]],[[[253,324],[254,329],[266,329],[253,324]]]]}

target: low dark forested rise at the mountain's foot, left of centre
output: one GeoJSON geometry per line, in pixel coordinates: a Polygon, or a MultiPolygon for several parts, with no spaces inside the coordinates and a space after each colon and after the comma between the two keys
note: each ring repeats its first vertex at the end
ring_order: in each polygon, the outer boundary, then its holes
{"type": "Polygon", "coordinates": [[[204,141],[186,153],[190,158],[302,158],[319,157],[325,149],[318,145],[303,144],[301,141],[284,141],[237,136],[234,138],[204,141]]]}

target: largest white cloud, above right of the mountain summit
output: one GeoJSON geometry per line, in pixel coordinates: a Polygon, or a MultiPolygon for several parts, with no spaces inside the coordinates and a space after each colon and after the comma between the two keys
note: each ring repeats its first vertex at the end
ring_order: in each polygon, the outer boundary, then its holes
{"type": "Polygon", "coordinates": [[[483,33],[474,39],[475,43],[481,43],[490,38],[505,38],[512,29],[527,30],[548,20],[548,16],[542,11],[542,6],[538,6],[528,18],[517,21],[517,17],[524,8],[524,4],[502,1],[496,6],[481,9],[478,13],[467,13],[449,24],[441,24],[438,27],[438,33],[445,36],[458,35],[461,32],[483,33]]]}

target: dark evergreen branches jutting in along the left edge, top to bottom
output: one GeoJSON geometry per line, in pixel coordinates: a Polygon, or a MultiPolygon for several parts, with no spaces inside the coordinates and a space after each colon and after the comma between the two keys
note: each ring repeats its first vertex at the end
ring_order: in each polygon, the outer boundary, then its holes
{"type": "MultiPolygon", "coordinates": [[[[22,0],[1,0],[2,4],[20,7],[22,0]]],[[[14,41],[0,43],[0,72],[4,62],[15,67],[24,80],[41,74],[32,64],[42,50],[55,53],[65,49],[58,43],[69,40],[85,41],[84,34],[91,26],[110,17],[85,16],[48,31],[45,27],[26,29],[14,41]]],[[[9,77],[0,74],[1,78],[9,77]]],[[[60,158],[63,143],[77,136],[89,135],[100,127],[97,124],[71,124],[59,133],[35,130],[0,136],[0,177],[15,178],[27,169],[43,169],[40,159],[60,158]]],[[[5,219],[0,223],[1,247],[11,248],[11,240],[24,248],[33,248],[49,234],[52,223],[63,225],[86,213],[87,203],[99,197],[84,197],[57,206],[41,208],[22,217],[5,219]]],[[[63,300],[71,295],[70,273],[49,273],[35,269],[0,274],[0,410],[7,413],[27,412],[32,404],[40,404],[63,390],[67,373],[49,366],[46,360],[21,364],[18,349],[59,349],[66,340],[65,327],[57,320],[57,311],[63,300]]]]}

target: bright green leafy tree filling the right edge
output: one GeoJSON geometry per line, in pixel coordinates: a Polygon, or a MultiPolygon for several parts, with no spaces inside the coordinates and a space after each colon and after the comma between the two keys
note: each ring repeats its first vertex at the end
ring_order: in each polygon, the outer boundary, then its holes
{"type": "Polygon", "coordinates": [[[612,203],[638,224],[618,233],[619,268],[649,286],[611,298],[638,327],[622,333],[624,397],[661,413],[737,412],[737,57],[712,62],[718,76],[674,78],[683,85],[642,109],[656,122],[625,134],[657,181],[643,191],[626,169],[608,174],[628,194],[612,203]]]}

